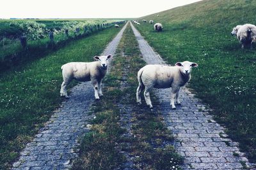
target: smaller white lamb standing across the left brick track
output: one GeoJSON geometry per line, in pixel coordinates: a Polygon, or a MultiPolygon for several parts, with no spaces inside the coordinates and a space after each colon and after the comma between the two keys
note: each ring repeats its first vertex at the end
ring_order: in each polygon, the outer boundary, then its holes
{"type": "Polygon", "coordinates": [[[101,80],[107,73],[108,59],[112,55],[95,56],[94,62],[68,62],[61,66],[63,83],[61,84],[60,96],[68,97],[67,85],[73,80],[92,81],[95,99],[102,95],[101,80]]]}

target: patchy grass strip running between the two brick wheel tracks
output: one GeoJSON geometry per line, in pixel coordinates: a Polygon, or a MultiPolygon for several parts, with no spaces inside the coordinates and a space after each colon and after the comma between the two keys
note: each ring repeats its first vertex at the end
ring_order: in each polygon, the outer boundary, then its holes
{"type": "Polygon", "coordinates": [[[104,79],[105,95],[92,110],[95,113],[92,131],[84,136],[79,159],[72,169],[124,169],[126,160],[122,152],[134,157],[134,169],[180,169],[182,157],[172,145],[166,145],[173,142],[173,136],[164,127],[161,114],[149,111],[145,105],[134,105],[138,85],[134,75],[145,62],[140,58],[138,42],[130,25],[116,52],[111,73],[104,79]],[[126,83],[125,88],[122,82],[126,83]],[[124,109],[121,110],[120,105],[124,109]],[[129,108],[129,113],[124,111],[125,107],[129,108]],[[124,125],[131,127],[130,137],[120,124],[125,114],[132,117],[131,122],[124,125]]]}

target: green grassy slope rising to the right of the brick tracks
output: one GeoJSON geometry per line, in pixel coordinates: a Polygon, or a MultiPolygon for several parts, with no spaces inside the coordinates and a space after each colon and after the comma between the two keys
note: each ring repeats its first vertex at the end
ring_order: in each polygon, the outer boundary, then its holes
{"type": "Polygon", "coordinates": [[[199,67],[189,87],[214,109],[228,135],[256,162],[256,46],[241,50],[230,36],[238,24],[256,24],[256,1],[201,1],[138,18],[136,26],[169,64],[189,60],[199,67]],[[159,15],[159,17],[157,17],[159,15]],[[163,32],[141,20],[163,24],[163,32]]]}

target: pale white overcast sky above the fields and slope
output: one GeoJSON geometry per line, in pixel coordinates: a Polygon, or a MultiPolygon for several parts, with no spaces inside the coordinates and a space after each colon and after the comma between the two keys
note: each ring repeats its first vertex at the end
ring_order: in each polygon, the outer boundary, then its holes
{"type": "Polygon", "coordinates": [[[200,0],[5,0],[0,18],[137,18],[200,0]]]}

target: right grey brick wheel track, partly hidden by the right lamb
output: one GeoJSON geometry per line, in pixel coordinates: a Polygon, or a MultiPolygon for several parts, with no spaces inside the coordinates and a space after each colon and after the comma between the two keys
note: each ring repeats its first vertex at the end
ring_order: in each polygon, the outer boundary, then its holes
{"type": "MultiPolygon", "coordinates": [[[[165,64],[132,25],[147,64],[165,64]]],[[[225,129],[212,120],[207,106],[184,87],[180,92],[181,106],[170,108],[170,89],[154,90],[160,101],[160,112],[177,141],[175,148],[184,156],[184,169],[243,169],[252,166],[238,144],[228,139],[225,129]]],[[[155,104],[156,106],[156,104],[155,104]]]]}

